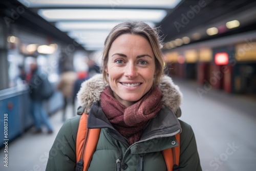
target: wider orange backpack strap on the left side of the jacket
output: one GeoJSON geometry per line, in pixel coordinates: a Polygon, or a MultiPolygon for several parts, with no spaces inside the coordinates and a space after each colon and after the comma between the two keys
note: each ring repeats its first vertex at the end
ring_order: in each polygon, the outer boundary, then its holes
{"type": "Polygon", "coordinates": [[[88,115],[82,114],[76,138],[76,171],[87,170],[99,140],[100,129],[87,128],[88,115]]]}

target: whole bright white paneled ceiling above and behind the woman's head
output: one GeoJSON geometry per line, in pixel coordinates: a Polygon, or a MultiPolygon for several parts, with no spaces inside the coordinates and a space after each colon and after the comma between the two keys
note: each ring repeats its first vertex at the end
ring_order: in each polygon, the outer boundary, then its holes
{"type": "Polygon", "coordinates": [[[110,30],[124,20],[141,20],[151,27],[160,23],[181,0],[18,0],[81,44],[101,50],[110,30]]]}

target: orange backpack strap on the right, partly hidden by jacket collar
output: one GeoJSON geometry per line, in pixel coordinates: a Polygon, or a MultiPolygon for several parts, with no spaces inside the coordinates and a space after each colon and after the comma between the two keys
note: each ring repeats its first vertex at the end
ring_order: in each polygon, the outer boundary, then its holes
{"type": "Polygon", "coordinates": [[[180,162],[180,134],[175,135],[178,146],[167,148],[163,151],[164,160],[168,171],[178,171],[180,162]]]}

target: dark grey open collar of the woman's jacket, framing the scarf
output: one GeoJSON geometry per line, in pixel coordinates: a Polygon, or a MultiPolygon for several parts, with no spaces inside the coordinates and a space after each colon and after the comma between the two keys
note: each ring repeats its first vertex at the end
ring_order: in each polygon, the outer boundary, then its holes
{"type": "MultiPolygon", "coordinates": [[[[124,137],[114,129],[108,118],[106,118],[99,102],[95,102],[92,104],[91,110],[89,112],[87,126],[89,129],[108,129],[109,134],[113,138],[129,146],[124,137]]],[[[157,117],[151,119],[151,121],[146,126],[146,129],[144,130],[140,141],[136,142],[135,144],[155,138],[173,139],[173,136],[178,133],[181,133],[181,126],[177,117],[169,108],[163,108],[160,110],[157,117]]],[[[165,139],[165,141],[167,140],[165,139]]],[[[170,147],[170,143],[163,143],[165,141],[162,141],[162,145],[160,147],[161,150],[170,147]]],[[[138,153],[135,149],[137,148],[133,148],[133,153],[138,153]]],[[[154,149],[147,150],[147,153],[149,152],[154,152],[154,149]]]]}

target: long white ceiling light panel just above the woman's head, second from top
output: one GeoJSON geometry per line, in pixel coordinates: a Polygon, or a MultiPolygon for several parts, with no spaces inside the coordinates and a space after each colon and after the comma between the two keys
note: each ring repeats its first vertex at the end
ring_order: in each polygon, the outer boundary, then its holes
{"type": "Polygon", "coordinates": [[[161,22],[166,16],[165,10],[139,9],[40,9],[38,14],[48,20],[142,20],[161,22]]]}

